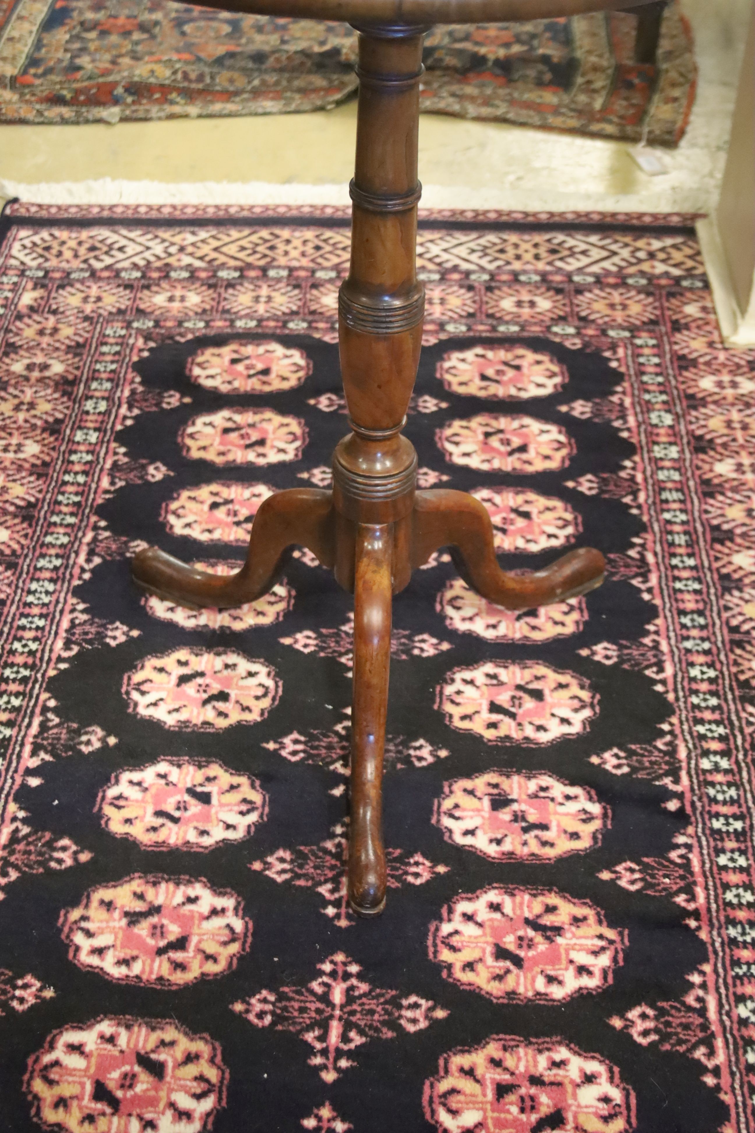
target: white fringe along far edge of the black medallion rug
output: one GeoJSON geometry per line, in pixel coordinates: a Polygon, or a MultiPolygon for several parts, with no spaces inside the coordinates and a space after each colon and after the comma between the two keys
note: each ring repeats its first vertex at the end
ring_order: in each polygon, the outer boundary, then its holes
{"type": "MultiPolygon", "coordinates": [[[[280,185],[269,181],[125,181],[103,177],[91,181],[43,181],[28,185],[0,178],[0,198],[18,197],[41,205],[348,205],[349,186],[280,185]]],[[[424,208],[500,208],[515,212],[679,212],[672,195],[587,196],[535,187],[471,188],[424,185],[424,208]]],[[[690,211],[695,211],[690,208],[690,211]]]]}

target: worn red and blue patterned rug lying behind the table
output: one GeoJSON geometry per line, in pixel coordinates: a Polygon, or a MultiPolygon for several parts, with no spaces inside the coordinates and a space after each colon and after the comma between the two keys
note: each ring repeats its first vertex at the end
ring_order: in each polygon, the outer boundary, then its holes
{"type": "MultiPolygon", "coordinates": [[[[436,28],[421,108],[676,145],[695,90],[689,27],[666,14],[658,66],[636,17],[436,28]]],[[[357,90],[345,24],[169,0],[0,0],[0,121],[86,122],[321,110],[357,90]]]]}

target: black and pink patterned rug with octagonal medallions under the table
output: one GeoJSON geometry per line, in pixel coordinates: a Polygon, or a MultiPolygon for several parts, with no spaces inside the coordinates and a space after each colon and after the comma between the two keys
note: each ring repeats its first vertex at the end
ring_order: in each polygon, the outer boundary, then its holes
{"type": "Polygon", "coordinates": [[[469,488],[525,614],[437,554],[395,602],[385,915],[344,900],[349,595],[229,571],[346,428],[338,208],[2,220],[0,1130],[755,1130],[755,351],[684,216],[427,214],[422,485],[469,488]]]}

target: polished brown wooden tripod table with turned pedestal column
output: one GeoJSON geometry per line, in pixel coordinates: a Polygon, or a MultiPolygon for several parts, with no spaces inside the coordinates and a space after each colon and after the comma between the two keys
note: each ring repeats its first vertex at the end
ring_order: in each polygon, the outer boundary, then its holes
{"type": "Polygon", "coordinates": [[[255,517],[247,561],[232,577],[196,570],[156,548],[139,552],[134,579],[189,606],[235,606],[275,583],[286,551],[311,551],[354,595],[349,901],[383,911],[386,860],[381,778],[391,659],[392,596],[439,547],[489,602],[529,610],[585,594],[603,556],[581,548],[544,570],[508,574],[482,503],[463,492],[417,491],[417,452],[402,436],[422,341],[424,290],[417,279],[419,83],[422,40],[434,23],[532,19],[627,0],[205,0],[206,7],[345,19],[359,32],[359,110],[351,267],[338,298],[343,386],[351,433],[333,457],[333,491],[290,488],[255,517]]]}

